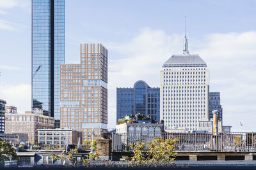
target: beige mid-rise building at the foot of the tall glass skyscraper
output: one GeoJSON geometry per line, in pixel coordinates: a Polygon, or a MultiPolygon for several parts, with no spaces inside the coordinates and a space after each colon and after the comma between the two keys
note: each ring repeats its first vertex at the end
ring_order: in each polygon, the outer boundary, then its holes
{"type": "Polygon", "coordinates": [[[25,113],[6,113],[6,133],[28,134],[29,143],[37,143],[37,129],[53,129],[54,118],[43,115],[43,111],[35,109],[25,113]]]}

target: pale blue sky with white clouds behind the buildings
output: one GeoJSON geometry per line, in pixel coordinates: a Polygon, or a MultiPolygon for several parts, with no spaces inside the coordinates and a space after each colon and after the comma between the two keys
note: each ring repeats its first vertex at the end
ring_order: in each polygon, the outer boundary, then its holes
{"type": "MultiPolygon", "coordinates": [[[[144,80],[182,53],[187,16],[189,53],[210,70],[220,92],[223,125],[256,131],[256,1],[66,0],[65,63],[79,63],[80,43],[108,48],[108,127],[116,123],[116,87],[144,80]],[[243,126],[240,125],[243,124],[243,126]]],[[[31,110],[31,0],[0,0],[0,99],[31,110]]]]}

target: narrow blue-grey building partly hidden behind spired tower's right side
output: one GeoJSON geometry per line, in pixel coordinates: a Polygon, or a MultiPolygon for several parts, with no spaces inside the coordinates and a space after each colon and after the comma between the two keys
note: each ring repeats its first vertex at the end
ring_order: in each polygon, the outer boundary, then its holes
{"type": "Polygon", "coordinates": [[[220,92],[209,92],[209,118],[212,118],[212,111],[218,110],[218,119],[222,120],[222,108],[220,104],[220,92]]]}

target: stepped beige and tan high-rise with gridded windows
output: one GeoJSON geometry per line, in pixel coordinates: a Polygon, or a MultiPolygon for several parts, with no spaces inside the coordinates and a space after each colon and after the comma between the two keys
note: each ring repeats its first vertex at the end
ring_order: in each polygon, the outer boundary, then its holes
{"type": "Polygon", "coordinates": [[[92,140],[108,132],[108,50],[81,44],[81,64],[61,65],[60,127],[83,132],[92,140]]]}

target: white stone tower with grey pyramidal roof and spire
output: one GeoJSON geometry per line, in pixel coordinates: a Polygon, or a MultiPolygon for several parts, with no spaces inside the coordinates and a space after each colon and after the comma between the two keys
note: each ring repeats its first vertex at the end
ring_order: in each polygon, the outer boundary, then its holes
{"type": "Polygon", "coordinates": [[[164,62],[160,77],[164,129],[195,131],[200,118],[209,120],[209,69],[199,55],[189,54],[186,36],[183,54],[164,62]]]}

